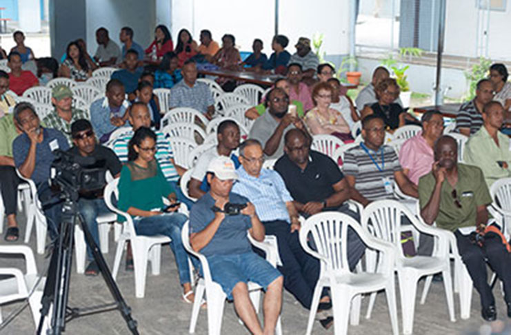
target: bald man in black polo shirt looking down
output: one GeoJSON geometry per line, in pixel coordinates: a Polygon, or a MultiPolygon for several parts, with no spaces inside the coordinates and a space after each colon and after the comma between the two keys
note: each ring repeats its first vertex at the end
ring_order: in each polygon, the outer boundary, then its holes
{"type": "MultiPolygon", "coordinates": [[[[274,169],[282,176],[298,212],[307,218],[323,211],[337,211],[359,221],[360,214],[344,203],[350,199],[350,190],[339,166],[329,156],[310,150],[305,134],[299,129],[285,133],[284,141],[285,154],[274,169]]],[[[352,230],[348,232],[348,244],[348,263],[353,269],[365,246],[352,230]]]]}

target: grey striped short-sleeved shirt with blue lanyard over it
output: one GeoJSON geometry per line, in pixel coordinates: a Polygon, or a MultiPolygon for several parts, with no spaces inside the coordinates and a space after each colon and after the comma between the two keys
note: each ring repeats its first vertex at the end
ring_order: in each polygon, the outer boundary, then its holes
{"type": "Polygon", "coordinates": [[[390,181],[393,190],[394,172],[401,170],[394,148],[388,145],[382,145],[377,152],[374,152],[361,143],[344,153],[344,175],[354,176],[355,189],[370,201],[394,199],[393,192],[386,192],[384,182],[385,179],[390,181]]]}

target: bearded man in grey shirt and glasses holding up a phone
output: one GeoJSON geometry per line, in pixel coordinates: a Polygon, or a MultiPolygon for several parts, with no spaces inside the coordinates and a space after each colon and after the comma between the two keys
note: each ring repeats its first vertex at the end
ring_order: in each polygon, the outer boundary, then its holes
{"type": "Polygon", "coordinates": [[[268,112],[257,118],[250,129],[250,139],[263,144],[268,159],[277,159],[284,153],[284,132],[299,128],[305,132],[308,141],[310,134],[303,121],[296,114],[288,113],[289,97],[281,88],[273,88],[266,94],[268,112]]]}

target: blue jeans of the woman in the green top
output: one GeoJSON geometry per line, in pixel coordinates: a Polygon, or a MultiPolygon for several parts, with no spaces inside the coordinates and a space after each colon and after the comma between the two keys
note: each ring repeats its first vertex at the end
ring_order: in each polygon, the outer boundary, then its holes
{"type": "Polygon", "coordinates": [[[181,242],[181,229],[186,220],[188,220],[186,215],[181,213],[165,213],[133,220],[135,231],[139,235],[164,235],[170,237],[170,249],[172,249],[176,258],[181,285],[190,283],[188,253],[181,242]]]}

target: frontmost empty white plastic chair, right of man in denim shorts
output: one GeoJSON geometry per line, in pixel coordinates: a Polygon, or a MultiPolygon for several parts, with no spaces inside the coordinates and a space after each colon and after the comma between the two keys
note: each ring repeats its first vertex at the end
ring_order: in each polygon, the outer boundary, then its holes
{"type": "Polygon", "coordinates": [[[394,335],[399,334],[394,288],[394,245],[373,238],[352,217],[339,212],[322,212],[310,216],[301,226],[300,243],[305,252],[319,258],[321,261],[321,272],[314,288],[305,334],[310,335],[312,332],[319,298],[325,286],[330,287],[335,335],[347,334],[350,305],[352,320],[358,319],[360,312],[359,295],[379,290],[385,290],[387,296],[392,333],[394,335]],[[376,272],[350,272],[347,255],[348,227],[351,227],[357,233],[368,250],[380,252],[381,266],[378,267],[376,272]],[[317,251],[312,250],[309,246],[309,236],[312,237],[317,251]]]}

